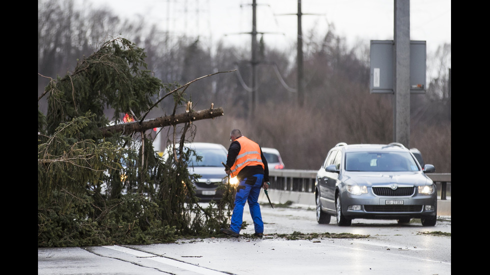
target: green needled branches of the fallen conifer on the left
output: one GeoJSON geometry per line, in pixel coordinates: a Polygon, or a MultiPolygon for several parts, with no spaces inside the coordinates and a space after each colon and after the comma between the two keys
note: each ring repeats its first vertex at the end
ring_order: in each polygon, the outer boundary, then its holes
{"type": "MultiPolygon", "coordinates": [[[[101,136],[106,108],[118,124],[126,113],[140,118],[161,90],[170,92],[144,58],[141,48],[116,38],[46,86],[48,110],[38,110],[37,123],[38,247],[165,243],[215,236],[228,222],[232,188],[221,186],[223,200],[202,207],[184,153],[163,161],[145,131],[101,136]]],[[[183,91],[167,98],[175,108],[186,102],[183,91]]],[[[169,142],[191,141],[196,131],[190,123],[167,128],[169,142]]]]}

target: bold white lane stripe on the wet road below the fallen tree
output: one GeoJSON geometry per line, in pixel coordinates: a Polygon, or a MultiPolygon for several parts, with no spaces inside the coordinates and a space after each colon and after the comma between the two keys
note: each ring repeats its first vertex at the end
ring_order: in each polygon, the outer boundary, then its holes
{"type": "Polygon", "coordinates": [[[165,265],[173,266],[173,267],[176,267],[176,268],[180,268],[180,269],[185,269],[185,270],[188,270],[188,271],[192,271],[192,272],[195,272],[195,273],[198,273],[198,274],[202,274],[202,275],[223,275],[223,274],[226,274],[226,273],[222,273],[222,272],[219,272],[219,271],[214,271],[214,270],[210,270],[210,269],[206,269],[206,268],[194,266],[194,265],[191,265],[191,264],[179,262],[179,261],[172,260],[172,259],[169,259],[169,258],[165,258],[165,257],[161,257],[161,256],[149,254],[149,253],[146,253],[146,252],[141,252],[141,251],[138,251],[138,250],[125,248],[125,247],[119,247],[119,246],[103,246],[103,247],[104,248],[108,248],[108,249],[112,249],[112,250],[116,250],[116,251],[119,251],[119,252],[122,252],[122,253],[134,255],[136,257],[151,258],[150,260],[153,260],[153,261],[156,261],[156,262],[165,264],[165,265]]]}

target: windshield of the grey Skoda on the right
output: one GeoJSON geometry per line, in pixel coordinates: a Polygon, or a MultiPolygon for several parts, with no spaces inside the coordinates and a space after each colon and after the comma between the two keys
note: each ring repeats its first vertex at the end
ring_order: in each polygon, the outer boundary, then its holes
{"type": "Polygon", "coordinates": [[[419,171],[408,152],[347,152],[345,170],[361,172],[419,171]]]}

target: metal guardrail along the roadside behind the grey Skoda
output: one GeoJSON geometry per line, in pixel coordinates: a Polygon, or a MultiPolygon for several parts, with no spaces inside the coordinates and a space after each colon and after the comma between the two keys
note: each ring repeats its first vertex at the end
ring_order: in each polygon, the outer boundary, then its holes
{"type": "MultiPolygon", "coordinates": [[[[296,192],[313,192],[317,170],[269,170],[270,189],[296,192]]],[[[427,173],[435,184],[440,184],[440,199],[447,200],[448,183],[451,183],[450,173],[427,173]]]]}

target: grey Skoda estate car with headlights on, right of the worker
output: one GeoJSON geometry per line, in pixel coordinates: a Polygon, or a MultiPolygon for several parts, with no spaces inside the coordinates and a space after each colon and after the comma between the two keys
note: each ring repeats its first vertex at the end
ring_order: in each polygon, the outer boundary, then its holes
{"type": "Polygon", "coordinates": [[[400,143],[338,143],[330,149],[316,174],[316,221],[339,226],[353,219],[397,220],[419,218],[422,226],[435,226],[437,190],[409,149],[400,143]]]}

